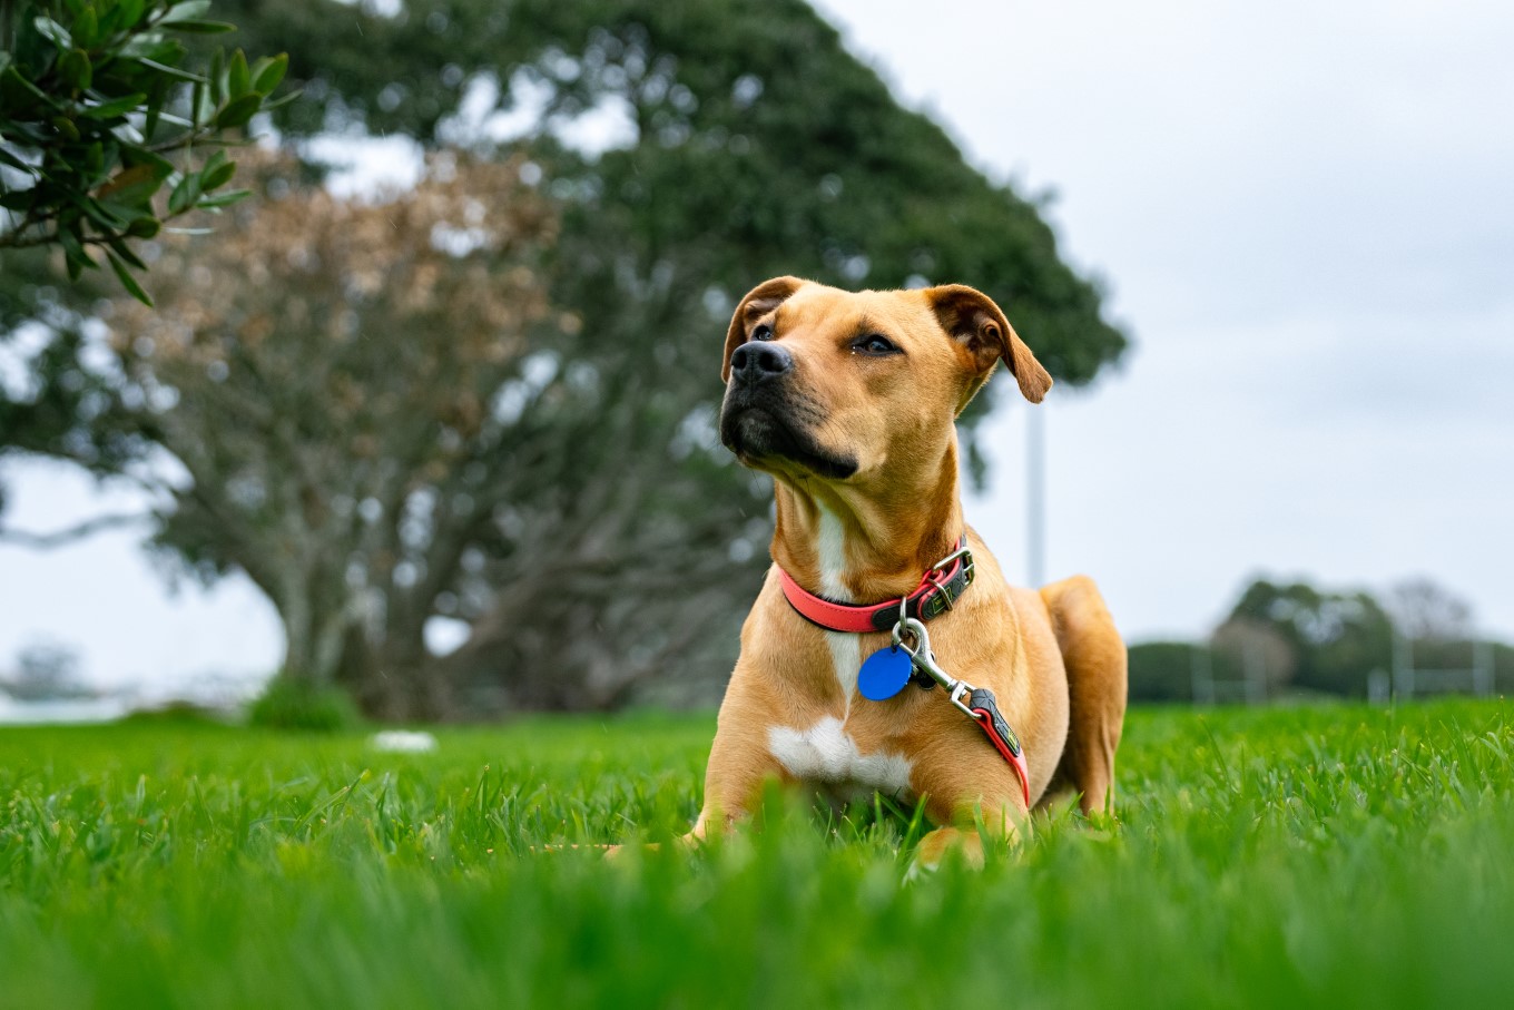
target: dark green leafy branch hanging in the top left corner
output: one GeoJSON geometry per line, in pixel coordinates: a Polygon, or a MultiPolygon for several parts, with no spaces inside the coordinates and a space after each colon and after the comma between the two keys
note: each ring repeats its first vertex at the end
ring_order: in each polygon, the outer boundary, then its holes
{"type": "Polygon", "coordinates": [[[177,35],[233,30],[209,0],[6,3],[0,20],[0,248],[58,245],[74,280],[103,248],[121,285],[133,251],[164,221],[235,203],[224,150],[283,79],[288,58],[248,65],[220,50],[209,70],[180,64],[177,35]],[[204,156],[204,148],[213,148],[204,156]],[[179,159],[176,165],[171,157],[179,159]],[[156,206],[159,192],[167,206],[156,206]],[[221,191],[221,192],[217,192],[221,191]]]}

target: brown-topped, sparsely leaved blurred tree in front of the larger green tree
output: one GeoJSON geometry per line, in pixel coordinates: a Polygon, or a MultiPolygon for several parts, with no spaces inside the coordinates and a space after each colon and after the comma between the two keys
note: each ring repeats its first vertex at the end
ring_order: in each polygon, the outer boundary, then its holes
{"type": "Polygon", "coordinates": [[[528,332],[577,326],[534,270],[556,221],[518,162],[438,154],[378,204],[260,174],[233,232],[164,244],[156,310],[111,320],[117,400],[188,475],[156,542],[268,594],[286,677],[330,684],[357,648],[374,710],[439,715],[425,621],[534,475],[528,332]]]}

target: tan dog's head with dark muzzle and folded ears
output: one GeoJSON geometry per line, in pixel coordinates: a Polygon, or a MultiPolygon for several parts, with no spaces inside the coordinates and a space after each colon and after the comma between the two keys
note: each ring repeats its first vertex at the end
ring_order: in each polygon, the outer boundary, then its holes
{"type": "Polygon", "coordinates": [[[992,298],[963,285],[757,285],[725,335],[721,441],[748,466],[846,482],[939,445],[999,360],[1026,400],[1051,376],[992,298]]]}

